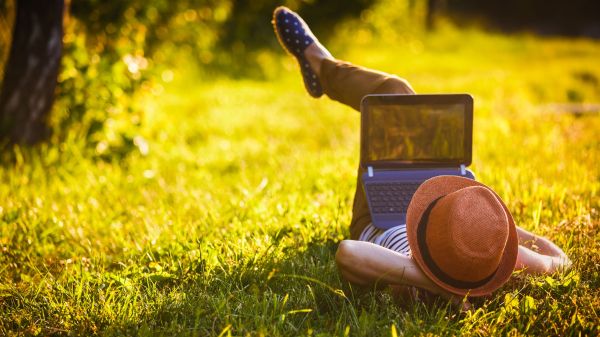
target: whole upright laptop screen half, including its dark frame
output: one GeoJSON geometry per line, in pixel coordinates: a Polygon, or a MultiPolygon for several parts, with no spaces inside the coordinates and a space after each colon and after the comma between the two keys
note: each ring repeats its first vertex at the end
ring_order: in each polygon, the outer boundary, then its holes
{"type": "Polygon", "coordinates": [[[471,163],[469,95],[372,95],[363,101],[361,163],[452,166],[471,163]]]}

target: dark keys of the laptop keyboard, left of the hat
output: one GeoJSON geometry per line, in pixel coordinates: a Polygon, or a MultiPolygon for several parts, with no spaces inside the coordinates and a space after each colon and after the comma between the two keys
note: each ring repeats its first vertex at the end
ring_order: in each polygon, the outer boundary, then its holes
{"type": "Polygon", "coordinates": [[[406,213],[420,183],[368,183],[367,195],[373,213],[406,213]]]}

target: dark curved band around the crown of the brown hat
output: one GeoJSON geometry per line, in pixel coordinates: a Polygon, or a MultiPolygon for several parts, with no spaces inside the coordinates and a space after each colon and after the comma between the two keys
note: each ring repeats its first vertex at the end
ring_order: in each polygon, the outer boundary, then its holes
{"type": "Polygon", "coordinates": [[[417,227],[417,243],[419,244],[419,248],[421,248],[421,256],[423,257],[423,261],[425,262],[425,264],[427,265],[427,267],[429,267],[429,270],[442,282],[454,287],[454,288],[459,288],[459,289],[475,289],[475,288],[479,288],[482,285],[488,283],[496,274],[496,272],[498,271],[498,268],[496,268],[496,270],[494,270],[492,272],[491,275],[485,277],[482,280],[479,281],[473,281],[473,282],[469,282],[469,281],[462,281],[462,280],[457,280],[453,277],[451,277],[450,275],[446,274],[433,260],[433,258],[431,258],[431,254],[429,252],[429,247],[427,246],[427,240],[425,239],[425,233],[427,231],[427,225],[429,223],[429,214],[431,213],[431,210],[433,209],[433,206],[435,206],[435,204],[438,202],[438,200],[440,200],[441,198],[443,198],[444,195],[442,195],[441,197],[433,200],[429,206],[427,206],[427,209],[425,209],[425,212],[423,212],[423,215],[421,216],[421,221],[419,221],[419,226],[417,227]]]}

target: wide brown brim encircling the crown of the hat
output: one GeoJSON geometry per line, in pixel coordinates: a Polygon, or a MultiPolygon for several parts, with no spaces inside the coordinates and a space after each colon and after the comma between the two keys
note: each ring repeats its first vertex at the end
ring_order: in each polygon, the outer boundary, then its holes
{"type": "Polygon", "coordinates": [[[508,210],[502,199],[500,199],[500,197],[496,194],[496,192],[494,192],[491,188],[487,187],[486,185],[472,179],[457,176],[437,176],[423,182],[423,184],[419,186],[419,188],[413,195],[410,204],[408,205],[408,210],[406,212],[406,231],[408,235],[408,244],[410,245],[412,257],[415,259],[423,273],[425,273],[425,275],[427,275],[440,288],[447,290],[448,292],[451,292],[453,294],[461,296],[468,295],[473,297],[488,295],[494,290],[500,288],[504,283],[506,283],[506,281],[508,281],[517,263],[519,241],[515,221],[512,215],[510,214],[510,211],[508,210]],[[423,213],[425,212],[425,210],[431,202],[446,194],[470,186],[485,187],[489,191],[491,191],[494,194],[494,196],[496,196],[500,204],[502,204],[504,211],[506,212],[509,223],[509,234],[506,246],[504,248],[504,253],[502,255],[502,258],[500,259],[500,264],[494,276],[482,286],[479,286],[474,289],[462,289],[446,284],[438,277],[436,277],[435,274],[429,269],[421,254],[421,247],[419,247],[419,243],[417,240],[417,229],[421,217],[423,216],[423,213]]]}

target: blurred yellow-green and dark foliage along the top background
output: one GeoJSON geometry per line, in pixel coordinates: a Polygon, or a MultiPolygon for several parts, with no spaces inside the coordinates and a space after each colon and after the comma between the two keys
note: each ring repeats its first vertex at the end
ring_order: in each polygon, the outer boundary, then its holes
{"type": "MultiPolygon", "coordinates": [[[[15,1],[0,1],[0,68],[10,46],[15,1]]],[[[592,36],[600,13],[594,12],[598,3],[589,0],[568,6],[554,0],[66,0],[51,142],[81,142],[103,158],[139,148],[141,102],[159,95],[174,69],[197,73],[198,81],[277,76],[281,52],[270,18],[278,5],[298,11],[326,42],[344,31],[347,38],[332,44],[337,50],[355,38],[419,36],[433,28],[430,21],[440,13],[459,24],[592,36]]]]}

